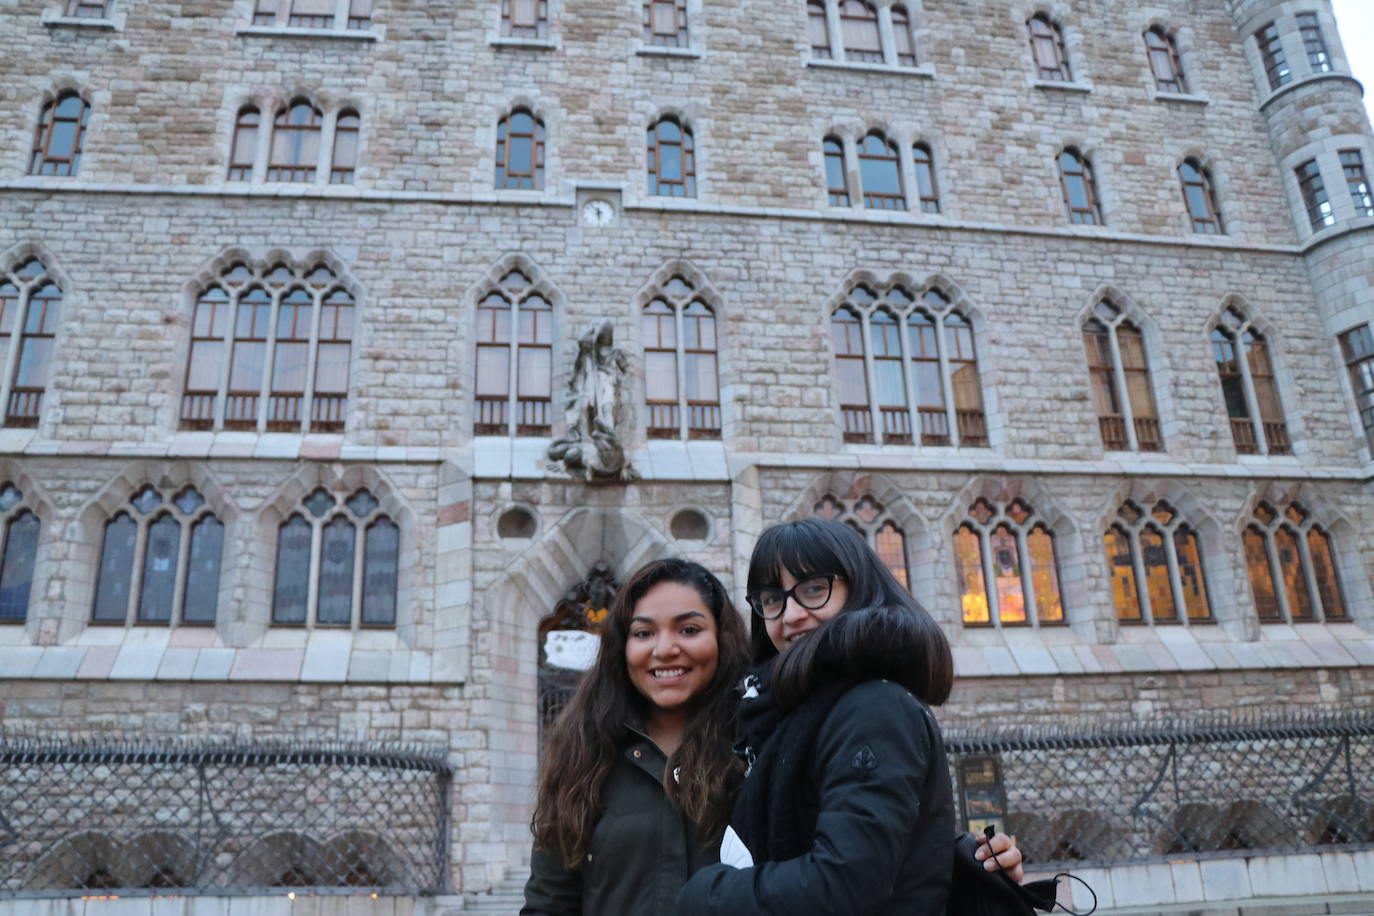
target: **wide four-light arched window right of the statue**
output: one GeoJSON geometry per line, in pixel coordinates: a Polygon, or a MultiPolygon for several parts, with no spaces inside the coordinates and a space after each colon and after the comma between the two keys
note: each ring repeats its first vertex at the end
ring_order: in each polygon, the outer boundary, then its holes
{"type": "Polygon", "coordinates": [[[846,442],[871,442],[877,428],[894,445],[915,430],[921,445],[988,444],[973,325],[940,290],[916,301],[900,284],[881,294],[856,286],[831,335],[846,442]]]}

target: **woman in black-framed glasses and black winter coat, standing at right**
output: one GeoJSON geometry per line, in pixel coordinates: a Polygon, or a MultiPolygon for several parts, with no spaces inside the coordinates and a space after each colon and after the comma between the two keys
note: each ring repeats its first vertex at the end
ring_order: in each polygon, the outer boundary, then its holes
{"type": "MultiPolygon", "coordinates": [[[[698,871],[677,912],[944,913],[954,799],[929,710],[954,681],[944,633],[838,522],[764,531],[747,589],[763,666],[731,827],[754,864],[698,871]]],[[[1000,858],[1020,880],[1020,853],[1000,858]]]]}

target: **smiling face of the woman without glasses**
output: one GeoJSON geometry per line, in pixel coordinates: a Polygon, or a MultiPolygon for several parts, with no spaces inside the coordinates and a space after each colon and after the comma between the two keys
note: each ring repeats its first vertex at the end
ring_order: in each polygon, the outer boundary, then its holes
{"type": "Polygon", "coordinates": [[[716,619],[691,585],[660,582],[635,603],[625,670],[651,717],[690,710],[710,687],[717,662],[716,619]]]}

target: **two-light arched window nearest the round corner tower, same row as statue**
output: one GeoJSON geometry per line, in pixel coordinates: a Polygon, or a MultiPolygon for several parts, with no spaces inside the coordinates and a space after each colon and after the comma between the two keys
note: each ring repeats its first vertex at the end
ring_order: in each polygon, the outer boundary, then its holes
{"type": "Polygon", "coordinates": [[[1235,308],[1212,330],[1212,354],[1231,438],[1241,455],[1287,455],[1287,424],[1264,338],[1235,308]]]}

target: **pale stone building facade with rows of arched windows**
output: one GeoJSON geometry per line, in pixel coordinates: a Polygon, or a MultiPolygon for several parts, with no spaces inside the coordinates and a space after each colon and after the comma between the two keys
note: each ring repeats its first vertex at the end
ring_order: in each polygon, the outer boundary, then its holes
{"type": "Polygon", "coordinates": [[[540,621],[664,555],[742,600],[818,511],[945,626],[947,726],[1374,703],[1374,135],[1327,0],[319,5],[0,10],[5,726],[442,744],[481,891],[528,858],[540,621]],[[654,302],[716,335],[666,434],[654,302]],[[602,321],[631,482],[544,457],[602,321]]]}

